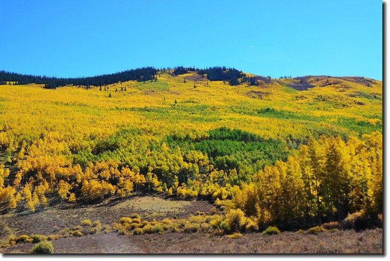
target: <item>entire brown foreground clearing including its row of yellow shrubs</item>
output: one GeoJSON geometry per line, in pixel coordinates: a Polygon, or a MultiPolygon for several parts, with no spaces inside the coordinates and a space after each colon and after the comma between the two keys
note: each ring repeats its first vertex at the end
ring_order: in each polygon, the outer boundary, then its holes
{"type": "Polygon", "coordinates": [[[50,207],[1,217],[1,238],[21,236],[2,240],[0,252],[30,253],[49,241],[53,253],[383,253],[380,228],[356,232],[332,223],[318,233],[312,228],[280,233],[275,227],[259,233],[247,225],[241,234],[223,231],[224,221],[229,218],[207,201],[146,195],[97,206],[50,207]]]}

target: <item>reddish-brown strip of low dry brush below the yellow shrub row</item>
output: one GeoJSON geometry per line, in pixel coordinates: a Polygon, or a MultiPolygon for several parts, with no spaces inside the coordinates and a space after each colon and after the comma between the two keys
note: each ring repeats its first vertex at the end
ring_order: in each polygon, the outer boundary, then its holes
{"type": "MultiPolygon", "coordinates": [[[[204,233],[170,233],[162,235],[117,236],[116,233],[69,237],[52,241],[55,253],[372,253],[382,254],[382,229],[363,232],[339,230],[318,235],[283,232],[263,236],[243,234],[229,239],[204,233]]],[[[1,249],[4,253],[27,253],[32,243],[1,249]]]]}

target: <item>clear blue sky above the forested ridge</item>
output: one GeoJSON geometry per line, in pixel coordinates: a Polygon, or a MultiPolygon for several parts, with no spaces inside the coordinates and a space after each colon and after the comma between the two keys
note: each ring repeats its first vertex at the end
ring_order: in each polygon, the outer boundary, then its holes
{"type": "Polygon", "coordinates": [[[0,70],[141,66],[382,80],[380,0],[0,0],[0,70]]]}

